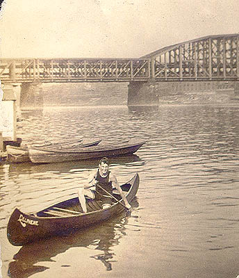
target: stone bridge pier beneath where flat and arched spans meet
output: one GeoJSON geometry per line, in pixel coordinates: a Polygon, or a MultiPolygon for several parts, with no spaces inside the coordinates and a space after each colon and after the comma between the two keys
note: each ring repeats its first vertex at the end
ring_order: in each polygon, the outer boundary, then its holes
{"type": "Polygon", "coordinates": [[[158,93],[154,81],[131,81],[128,85],[128,106],[158,105],[158,93]]]}

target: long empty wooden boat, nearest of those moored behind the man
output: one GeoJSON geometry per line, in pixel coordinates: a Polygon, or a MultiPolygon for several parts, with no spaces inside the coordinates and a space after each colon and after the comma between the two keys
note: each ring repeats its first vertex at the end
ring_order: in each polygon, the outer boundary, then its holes
{"type": "Polygon", "coordinates": [[[122,156],[125,154],[133,154],[145,141],[126,140],[119,144],[99,145],[89,148],[81,148],[79,150],[42,150],[29,148],[29,156],[33,163],[57,163],[63,161],[81,161],[94,158],[102,158],[104,156],[122,156]]]}

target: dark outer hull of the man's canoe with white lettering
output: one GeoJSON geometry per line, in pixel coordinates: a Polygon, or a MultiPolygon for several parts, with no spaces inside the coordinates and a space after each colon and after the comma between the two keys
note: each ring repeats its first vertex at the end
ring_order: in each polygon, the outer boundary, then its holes
{"type": "MultiPolygon", "coordinates": [[[[128,184],[128,183],[126,183],[128,184]]],[[[139,187],[139,176],[135,174],[129,181],[131,184],[129,191],[126,193],[128,202],[135,197],[139,187]]],[[[69,199],[69,204],[79,204],[78,198],[69,199]]],[[[7,228],[8,240],[12,245],[20,246],[31,243],[41,238],[49,236],[58,236],[69,234],[74,230],[84,229],[94,224],[104,222],[114,215],[124,211],[121,204],[113,204],[110,208],[99,209],[89,213],[72,215],[68,217],[39,217],[37,214],[26,214],[15,208],[10,216],[7,228]]]]}

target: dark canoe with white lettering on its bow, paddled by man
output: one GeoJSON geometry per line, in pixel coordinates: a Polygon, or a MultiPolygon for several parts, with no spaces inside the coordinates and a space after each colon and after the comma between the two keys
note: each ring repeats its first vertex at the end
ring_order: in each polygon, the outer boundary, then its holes
{"type": "MultiPolygon", "coordinates": [[[[135,197],[140,183],[138,174],[121,188],[128,202],[135,197]]],[[[121,196],[113,193],[120,202],[121,196]]],[[[86,199],[88,212],[83,213],[78,197],[44,208],[37,213],[23,213],[15,208],[8,222],[7,235],[12,245],[26,245],[40,238],[67,235],[79,229],[104,222],[124,211],[124,206],[113,200],[109,208],[101,208],[100,201],[86,199]]]]}

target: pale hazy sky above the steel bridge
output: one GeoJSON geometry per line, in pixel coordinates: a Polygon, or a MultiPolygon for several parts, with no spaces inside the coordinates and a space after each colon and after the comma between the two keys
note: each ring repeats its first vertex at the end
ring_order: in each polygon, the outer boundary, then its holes
{"type": "Polygon", "coordinates": [[[239,32],[238,0],[7,0],[4,57],[138,58],[170,44],[239,32]]]}

